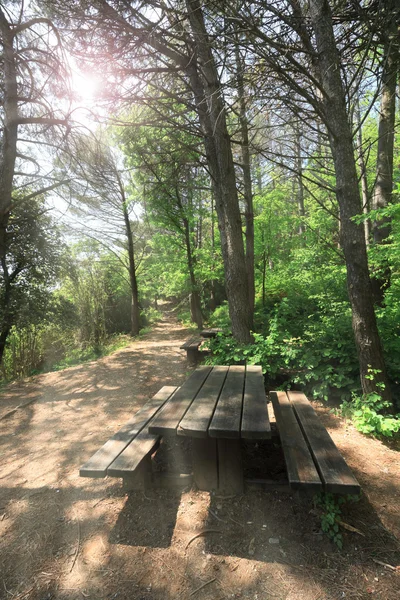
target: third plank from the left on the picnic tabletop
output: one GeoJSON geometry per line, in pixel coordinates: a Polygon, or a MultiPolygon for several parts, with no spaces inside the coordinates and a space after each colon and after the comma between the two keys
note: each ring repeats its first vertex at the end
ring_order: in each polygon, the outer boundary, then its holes
{"type": "Polygon", "coordinates": [[[245,373],[245,367],[236,365],[229,367],[224,387],[208,428],[210,437],[240,437],[245,373]]]}

